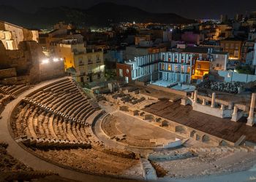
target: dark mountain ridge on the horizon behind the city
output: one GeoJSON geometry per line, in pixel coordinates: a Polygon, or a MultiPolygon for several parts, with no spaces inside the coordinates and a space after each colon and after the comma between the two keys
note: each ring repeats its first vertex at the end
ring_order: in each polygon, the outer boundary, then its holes
{"type": "Polygon", "coordinates": [[[146,12],[138,7],[103,2],[90,7],[79,9],[70,7],[40,7],[34,13],[22,12],[15,7],[0,5],[1,20],[21,25],[27,28],[50,28],[55,23],[64,20],[80,26],[108,26],[110,23],[192,23],[193,20],[176,15],[175,13],[146,12]]]}

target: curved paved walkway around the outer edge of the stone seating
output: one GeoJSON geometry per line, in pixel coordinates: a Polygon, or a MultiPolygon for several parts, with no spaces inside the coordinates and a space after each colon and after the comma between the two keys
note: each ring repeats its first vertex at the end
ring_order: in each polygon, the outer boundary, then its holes
{"type": "MultiPolygon", "coordinates": [[[[64,78],[61,78],[64,79],[64,78]]],[[[12,100],[12,102],[8,103],[5,107],[4,111],[1,113],[2,119],[0,119],[0,141],[6,142],[9,144],[7,151],[12,157],[15,157],[20,162],[23,162],[24,164],[28,165],[29,167],[32,167],[34,170],[48,170],[52,171],[54,173],[59,173],[64,178],[69,178],[77,181],[96,181],[96,182],[105,182],[105,181],[133,181],[133,180],[124,180],[124,179],[116,179],[116,178],[107,178],[103,176],[97,176],[97,175],[88,175],[85,173],[79,173],[74,170],[68,170],[63,167],[59,167],[58,165],[53,165],[50,162],[46,162],[45,160],[39,159],[38,157],[34,156],[34,154],[31,154],[29,151],[26,151],[21,146],[18,145],[18,143],[15,142],[15,140],[10,135],[10,132],[8,130],[8,123],[10,123],[10,116],[13,108],[26,97],[26,95],[29,95],[29,93],[33,92],[34,90],[38,90],[40,87],[44,87],[47,84],[56,82],[60,79],[53,79],[47,82],[42,82],[40,84],[37,84],[34,88],[31,88],[30,90],[26,90],[21,95],[18,96],[15,100],[12,100]]]]}

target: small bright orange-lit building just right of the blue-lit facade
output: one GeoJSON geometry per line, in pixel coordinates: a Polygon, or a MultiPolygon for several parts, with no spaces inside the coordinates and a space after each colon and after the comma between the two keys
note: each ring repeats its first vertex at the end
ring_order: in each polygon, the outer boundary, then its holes
{"type": "Polygon", "coordinates": [[[195,62],[195,74],[192,75],[192,79],[203,79],[203,76],[210,71],[210,62],[208,60],[196,60],[195,62]]]}

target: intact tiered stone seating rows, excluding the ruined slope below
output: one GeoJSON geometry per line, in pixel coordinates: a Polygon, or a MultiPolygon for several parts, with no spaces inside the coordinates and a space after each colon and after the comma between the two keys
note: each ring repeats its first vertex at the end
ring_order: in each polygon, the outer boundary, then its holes
{"type": "Polygon", "coordinates": [[[97,101],[72,79],[32,92],[15,111],[15,138],[29,146],[90,147],[89,116],[99,110],[97,101]]]}

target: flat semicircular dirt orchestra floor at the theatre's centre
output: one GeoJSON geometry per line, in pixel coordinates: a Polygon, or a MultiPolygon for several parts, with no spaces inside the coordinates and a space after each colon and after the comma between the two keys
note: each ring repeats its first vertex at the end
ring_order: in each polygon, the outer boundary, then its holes
{"type": "Polygon", "coordinates": [[[156,145],[150,143],[150,139],[164,138],[167,141],[182,139],[173,132],[148,124],[121,111],[116,111],[110,118],[107,118],[107,121],[102,123],[102,128],[110,138],[115,135],[126,135],[119,142],[127,143],[129,146],[154,147],[156,145]]]}

